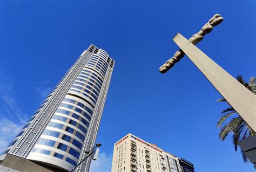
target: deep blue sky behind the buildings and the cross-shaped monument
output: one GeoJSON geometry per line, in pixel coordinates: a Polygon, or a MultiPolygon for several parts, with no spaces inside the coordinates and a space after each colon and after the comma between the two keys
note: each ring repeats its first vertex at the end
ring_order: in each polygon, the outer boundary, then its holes
{"type": "Polygon", "coordinates": [[[113,143],[127,133],[191,161],[196,171],[253,171],[232,138],[219,141],[226,104],[172,38],[197,33],[215,13],[224,22],[197,46],[235,77],[256,74],[256,2],[0,1],[0,150],[92,43],[116,60],[91,171],[110,171],[113,143]],[[104,170],[103,170],[104,169],[104,170]]]}

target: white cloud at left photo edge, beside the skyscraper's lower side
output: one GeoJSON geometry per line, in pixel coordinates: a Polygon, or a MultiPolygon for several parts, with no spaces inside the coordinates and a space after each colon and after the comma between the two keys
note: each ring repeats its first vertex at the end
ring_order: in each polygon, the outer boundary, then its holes
{"type": "Polygon", "coordinates": [[[23,127],[22,124],[16,124],[8,119],[2,119],[0,121],[0,153],[3,152],[3,150],[9,145],[10,141],[14,139],[16,134],[19,133],[19,131],[23,127]]]}

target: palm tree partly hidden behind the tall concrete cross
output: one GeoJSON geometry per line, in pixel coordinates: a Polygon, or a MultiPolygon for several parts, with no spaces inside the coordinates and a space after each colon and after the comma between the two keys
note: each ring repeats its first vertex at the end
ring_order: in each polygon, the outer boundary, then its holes
{"type": "MultiPolygon", "coordinates": [[[[245,82],[241,75],[237,75],[237,80],[244,85],[248,90],[250,90],[253,94],[256,94],[256,78],[251,77],[249,82],[245,82]]],[[[219,99],[217,101],[227,102],[225,99],[219,99]]],[[[228,102],[227,102],[228,103],[228,102]]],[[[230,104],[228,104],[230,106],[230,104]]],[[[219,139],[224,141],[228,134],[232,134],[233,137],[233,145],[235,151],[237,151],[238,142],[246,139],[247,137],[256,135],[256,132],[247,125],[244,119],[238,115],[237,111],[233,107],[228,107],[224,109],[224,114],[221,116],[217,123],[217,127],[221,128],[219,132],[219,139]]],[[[247,162],[247,157],[245,152],[241,150],[242,159],[244,162],[247,162]]]]}

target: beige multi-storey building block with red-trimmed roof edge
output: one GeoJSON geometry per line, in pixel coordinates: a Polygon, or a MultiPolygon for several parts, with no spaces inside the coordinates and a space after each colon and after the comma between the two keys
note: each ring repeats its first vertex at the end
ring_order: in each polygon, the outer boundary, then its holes
{"type": "Polygon", "coordinates": [[[191,171],[185,169],[179,160],[179,157],[156,145],[127,134],[114,144],[111,171],[194,172],[194,169],[191,171]]]}

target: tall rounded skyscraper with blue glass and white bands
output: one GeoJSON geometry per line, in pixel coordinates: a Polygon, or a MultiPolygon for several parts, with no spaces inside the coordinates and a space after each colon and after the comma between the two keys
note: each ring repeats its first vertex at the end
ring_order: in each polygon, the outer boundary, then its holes
{"type": "MultiPolygon", "coordinates": [[[[90,45],[4,150],[0,171],[70,171],[83,160],[95,145],[113,67],[90,45]]],[[[88,171],[90,162],[75,171],[88,171]]]]}

